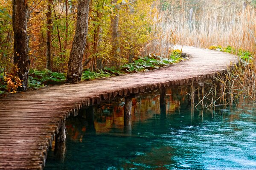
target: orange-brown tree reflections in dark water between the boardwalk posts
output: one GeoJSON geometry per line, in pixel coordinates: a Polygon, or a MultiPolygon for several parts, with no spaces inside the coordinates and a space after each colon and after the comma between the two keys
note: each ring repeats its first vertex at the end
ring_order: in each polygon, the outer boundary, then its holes
{"type": "MultiPolygon", "coordinates": [[[[132,122],[145,122],[160,116],[160,92],[141,94],[132,99],[132,122]]],[[[168,88],[166,91],[166,113],[174,113],[184,99],[184,90],[168,88]],[[180,97],[177,97],[177,94],[180,97]],[[175,95],[175,99],[173,97],[175,95]]],[[[82,142],[85,133],[106,133],[113,129],[124,128],[124,99],[83,108],[76,117],[67,119],[66,128],[70,139],[82,142]]]]}

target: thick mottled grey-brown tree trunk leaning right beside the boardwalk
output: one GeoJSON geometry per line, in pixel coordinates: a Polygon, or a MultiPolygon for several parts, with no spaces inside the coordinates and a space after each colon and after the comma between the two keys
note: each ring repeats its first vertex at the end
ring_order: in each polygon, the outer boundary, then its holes
{"type": "Polygon", "coordinates": [[[78,1],[76,33],[68,62],[67,82],[76,82],[81,80],[83,70],[82,59],[88,31],[89,1],[90,0],[78,1]]]}

